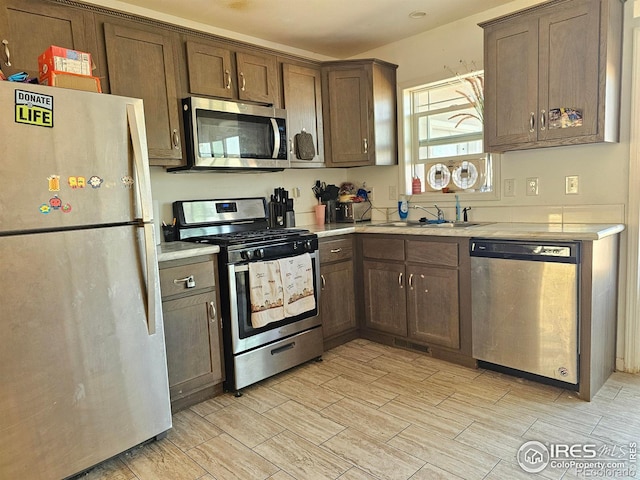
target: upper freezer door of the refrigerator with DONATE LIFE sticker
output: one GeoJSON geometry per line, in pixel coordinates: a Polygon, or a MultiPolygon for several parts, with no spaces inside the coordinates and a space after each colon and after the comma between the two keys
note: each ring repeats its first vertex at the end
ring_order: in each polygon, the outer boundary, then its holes
{"type": "Polygon", "coordinates": [[[2,144],[0,232],[140,216],[127,105],[142,112],[142,100],[0,82],[0,105],[0,131],[11,139],[2,144]]]}

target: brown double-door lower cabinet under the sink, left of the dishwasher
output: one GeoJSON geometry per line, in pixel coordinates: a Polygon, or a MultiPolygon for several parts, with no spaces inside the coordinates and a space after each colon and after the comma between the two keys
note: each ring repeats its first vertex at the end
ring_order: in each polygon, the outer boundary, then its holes
{"type": "Polygon", "coordinates": [[[472,365],[468,239],[361,235],[362,336],[472,365]]]}

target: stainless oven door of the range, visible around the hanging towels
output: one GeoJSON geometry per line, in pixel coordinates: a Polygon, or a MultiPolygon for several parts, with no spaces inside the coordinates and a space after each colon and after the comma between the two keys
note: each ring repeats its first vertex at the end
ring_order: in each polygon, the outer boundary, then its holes
{"type": "Polygon", "coordinates": [[[228,268],[231,348],[234,355],[303,332],[321,324],[320,268],[316,252],[310,253],[313,268],[313,290],[316,308],[295,317],[269,323],[260,328],[251,325],[251,301],[249,297],[249,265],[230,264],[228,268]]]}

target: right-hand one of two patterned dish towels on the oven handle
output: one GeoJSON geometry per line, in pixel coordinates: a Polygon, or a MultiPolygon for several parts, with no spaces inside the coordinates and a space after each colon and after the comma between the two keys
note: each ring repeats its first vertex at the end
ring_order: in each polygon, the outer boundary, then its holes
{"type": "Polygon", "coordinates": [[[316,308],[311,255],[281,258],[280,275],[284,293],[284,316],[295,317],[316,308]]]}

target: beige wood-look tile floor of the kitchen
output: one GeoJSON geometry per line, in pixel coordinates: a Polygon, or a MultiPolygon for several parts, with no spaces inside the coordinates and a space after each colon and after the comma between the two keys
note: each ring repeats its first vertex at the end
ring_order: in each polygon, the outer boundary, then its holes
{"type": "MultiPolygon", "coordinates": [[[[532,479],[516,457],[530,440],[596,445],[599,458],[635,467],[639,375],[615,373],[583,402],[558,388],[361,339],[323,359],[240,398],[224,394],[183,410],[167,438],[80,478],[532,479]]],[[[551,465],[537,476],[584,478],[551,465]]]]}

